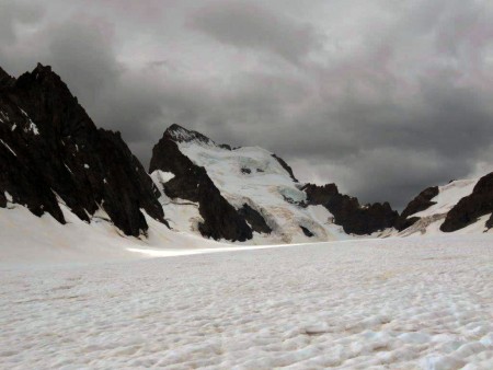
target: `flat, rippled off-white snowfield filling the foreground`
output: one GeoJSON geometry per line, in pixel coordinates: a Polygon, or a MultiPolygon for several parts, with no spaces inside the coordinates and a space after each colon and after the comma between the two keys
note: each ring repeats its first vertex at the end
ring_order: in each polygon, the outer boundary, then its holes
{"type": "Polygon", "coordinates": [[[493,369],[491,234],[0,264],[0,279],[2,369],[493,369]]]}

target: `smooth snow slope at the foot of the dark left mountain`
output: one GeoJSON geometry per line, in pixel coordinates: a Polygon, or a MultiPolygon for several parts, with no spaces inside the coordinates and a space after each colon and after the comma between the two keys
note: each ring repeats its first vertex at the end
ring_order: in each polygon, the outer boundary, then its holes
{"type": "Polygon", "coordinates": [[[0,266],[16,264],[94,263],[142,258],[156,248],[194,250],[222,247],[214,241],[169,230],[148,217],[147,236],[127,236],[115,228],[103,210],[87,223],[62,204],[67,224],[50,215],[34,216],[16,204],[0,208],[0,266]],[[134,251],[134,252],[131,252],[134,251]],[[136,251],[140,253],[136,253],[136,251]]]}

